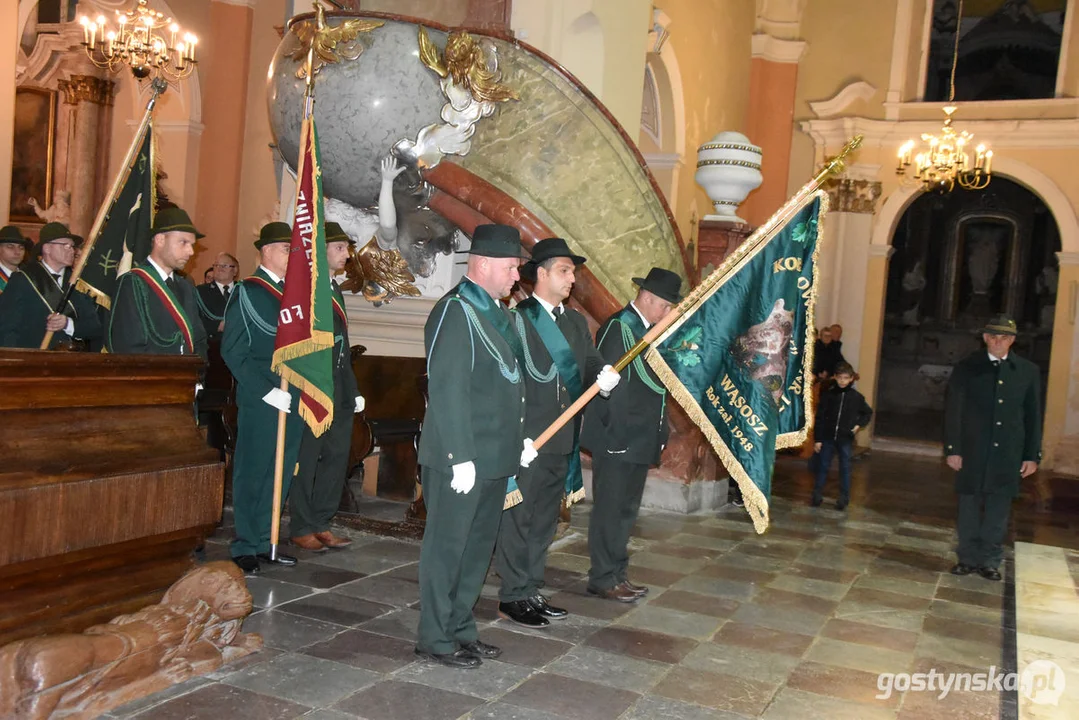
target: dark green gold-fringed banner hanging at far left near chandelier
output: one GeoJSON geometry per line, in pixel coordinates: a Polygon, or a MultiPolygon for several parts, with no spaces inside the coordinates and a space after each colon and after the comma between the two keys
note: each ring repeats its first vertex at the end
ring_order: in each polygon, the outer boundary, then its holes
{"type": "Polygon", "coordinates": [[[105,308],[112,307],[119,274],[144,262],[150,254],[154,200],[152,148],[153,125],[150,125],[79,277],[78,289],[105,308]]]}

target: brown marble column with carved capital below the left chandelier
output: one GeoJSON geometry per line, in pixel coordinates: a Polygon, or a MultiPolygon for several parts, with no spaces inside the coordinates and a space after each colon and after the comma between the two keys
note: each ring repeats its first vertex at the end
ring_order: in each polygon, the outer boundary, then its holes
{"type": "Polygon", "coordinates": [[[64,103],[73,106],[71,147],[68,152],[67,184],[71,192],[71,231],[86,235],[97,213],[98,164],[108,159],[99,152],[101,114],[112,103],[114,83],[86,74],[72,74],[57,83],[64,103]]]}

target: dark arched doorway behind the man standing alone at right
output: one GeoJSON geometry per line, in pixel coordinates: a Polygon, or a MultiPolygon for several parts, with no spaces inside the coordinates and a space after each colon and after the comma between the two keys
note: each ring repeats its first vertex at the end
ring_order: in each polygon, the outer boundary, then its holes
{"type": "Polygon", "coordinates": [[[940,441],[952,367],[981,347],[993,314],[1020,326],[1016,352],[1048,385],[1061,250],[1057,222],[1026,187],[927,193],[892,235],[876,397],[876,435],[940,441]]]}

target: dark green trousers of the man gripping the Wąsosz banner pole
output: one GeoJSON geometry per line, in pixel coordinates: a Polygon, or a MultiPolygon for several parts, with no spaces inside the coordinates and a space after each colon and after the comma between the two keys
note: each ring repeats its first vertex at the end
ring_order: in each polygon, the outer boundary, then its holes
{"type": "Polygon", "coordinates": [[[502,514],[495,551],[503,602],[533,597],[544,586],[547,547],[558,530],[569,464],[569,456],[541,454],[517,476],[524,500],[502,514]]]}

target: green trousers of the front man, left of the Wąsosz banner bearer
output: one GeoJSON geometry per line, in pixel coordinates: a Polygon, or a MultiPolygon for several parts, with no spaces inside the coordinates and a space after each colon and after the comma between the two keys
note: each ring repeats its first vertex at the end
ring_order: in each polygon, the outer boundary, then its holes
{"type": "Polygon", "coordinates": [[[453,475],[422,468],[427,525],[420,549],[420,628],[416,648],[436,655],[479,639],[473,606],[479,599],[498,535],[506,478],[477,479],[454,492],[453,475]]]}

